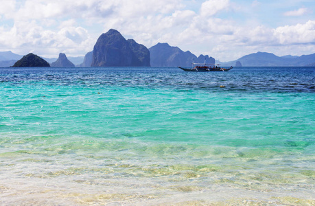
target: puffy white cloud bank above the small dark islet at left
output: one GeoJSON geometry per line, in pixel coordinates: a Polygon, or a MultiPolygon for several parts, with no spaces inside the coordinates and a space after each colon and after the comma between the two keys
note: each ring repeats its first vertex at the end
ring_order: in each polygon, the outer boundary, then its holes
{"type": "Polygon", "coordinates": [[[95,40],[82,27],[64,27],[52,31],[45,30],[36,21],[19,21],[10,30],[2,28],[0,31],[0,45],[18,54],[34,52],[56,56],[59,52],[71,52],[73,55],[82,55],[91,51],[95,44],[95,40]]]}

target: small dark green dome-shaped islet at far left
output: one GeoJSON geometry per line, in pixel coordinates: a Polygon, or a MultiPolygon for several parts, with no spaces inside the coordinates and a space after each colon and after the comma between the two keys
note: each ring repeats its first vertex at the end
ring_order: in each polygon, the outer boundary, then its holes
{"type": "Polygon", "coordinates": [[[50,67],[49,63],[36,54],[27,54],[15,62],[12,67],[50,67]]]}

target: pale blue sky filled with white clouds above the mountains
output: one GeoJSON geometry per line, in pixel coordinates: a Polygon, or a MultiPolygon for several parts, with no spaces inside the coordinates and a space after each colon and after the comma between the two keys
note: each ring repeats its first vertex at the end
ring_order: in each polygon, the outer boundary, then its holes
{"type": "Polygon", "coordinates": [[[1,0],[0,52],[84,56],[110,29],[220,61],[315,53],[314,0],[1,0]]]}

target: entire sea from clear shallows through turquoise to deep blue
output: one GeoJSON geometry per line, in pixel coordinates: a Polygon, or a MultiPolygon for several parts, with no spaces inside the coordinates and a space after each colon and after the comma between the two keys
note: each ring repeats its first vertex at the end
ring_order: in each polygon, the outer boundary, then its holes
{"type": "Polygon", "coordinates": [[[1,68],[0,205],[315,205],[315,67],[1,68]]]}

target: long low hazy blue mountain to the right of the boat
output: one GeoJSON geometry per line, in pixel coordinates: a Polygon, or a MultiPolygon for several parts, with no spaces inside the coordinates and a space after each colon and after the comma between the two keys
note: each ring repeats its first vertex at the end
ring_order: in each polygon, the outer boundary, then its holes
{"type": "Polygon", "coordinates": [[[305,67],[315,62],[315,54],[276,56],[267,52],[257,52],[231,62],[222,62],[222,65],[235,65],[236,62],[240,62],[243,67],[305,67]]]}

